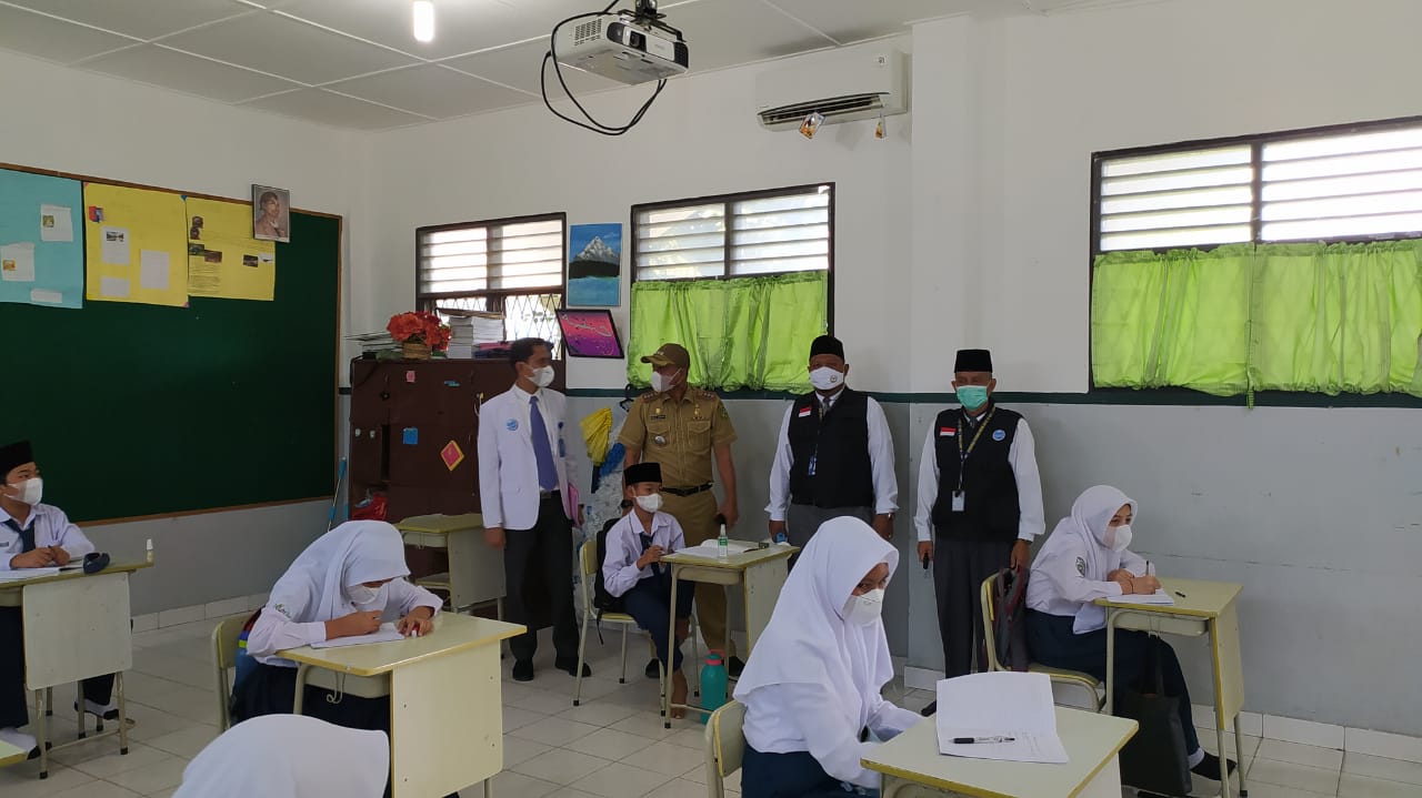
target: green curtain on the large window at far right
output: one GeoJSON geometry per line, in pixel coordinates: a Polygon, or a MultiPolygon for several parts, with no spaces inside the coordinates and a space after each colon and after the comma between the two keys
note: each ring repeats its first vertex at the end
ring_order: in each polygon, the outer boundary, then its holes
{"type": "Polygon", "coordinates": [[[1422,244],[1106,253],[1091,329],[1099,386],[1422,396],[1422,244]]]}

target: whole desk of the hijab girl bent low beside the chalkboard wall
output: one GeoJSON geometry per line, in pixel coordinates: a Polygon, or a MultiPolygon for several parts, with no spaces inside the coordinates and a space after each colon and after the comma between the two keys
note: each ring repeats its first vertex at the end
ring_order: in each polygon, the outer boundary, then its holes
{"type": "Polygon", "coordinates": [[[277,656],[297,663],[296,703],[306,684],[365,697],[390,696],[392,798],[438,798],[503,770],[499,643],[523,626],[454,612],[422,638],[337,649],[301,646],[277,656]]]}

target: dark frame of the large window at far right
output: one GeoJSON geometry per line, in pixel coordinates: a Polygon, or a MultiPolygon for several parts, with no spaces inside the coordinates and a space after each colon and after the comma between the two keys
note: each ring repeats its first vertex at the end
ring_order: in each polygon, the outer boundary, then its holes
{"type": "MultiPolygon", "coordinates": [[[[1244,241],[1250,246],[1263,244],[1291,244],[1291,243],[1325,243],[1325,244],[1348,244],[1348,243],[1372,243],[1372,241],[1408,241],[1422,239],[1422,231],[1415,231],[1411,234],[1389,233],[1385,236],[1334,236],[1325,239],[1288,239],[1278,241],[1263,241],[1260,239],[1260,231],[1263,229],[1263,219],[1260,217],[1260,210],[1263,209],[1263,148],[1266,143],[1280,143],[1287,141],[1298,141],[1308,138],[1347,135],[1347,133],[1378,133],[1402,128],[1419,128],[1422,126],[1422,115],[1415,116],[1395,116],[1388,119],[1372,119],[1364,122],[1344,122],[1338,125],[1317,125],[1311,128],[1294,128],[1288,131],[1277,131],[1271,133],[1247,133],[1239,136],[1221,136],[1212,139],[1189,139],[1165,145],[1148,145],[1148,146],[1132,146],[1109,151],[1096,151],[1091,153],[1091,206],[1089,206],[1089,220],[1088,220],[1088,236],[1091,239],[1089,256],[1086,258],[1086,395],[1099,398],[1102,400],[1118,399],[1122,405],[1183,405],[1183,406],[1204,406],[1204,405],[1229,405],[1229,406],[1244,406],[1247,402],[1246,396],[1210,396],[1207,393],[1200,393],[1197,390],[1190,390],[1189,388],[1102,388],[1096,385],[1096,376],[1092,369],[1092,356],[1095,352],[1095,341],[1091,332],[1091,298],[1095,295],[1095,278],[1096,278],[1096,258],[1103,254],[1101,248],[1101,180],[1102,180],[1102,166],[1106,160],[1115,160],[1119,158],[1136,158],[1146,155],[1167,155],[1173,152],[1186,152],[1194,149],[1214,149],[1236,145],[1250,145],[1250,168],[1253,169],[1253,180],[1250,183],[1250,240],[1244,241]]],[[[1202,251],[1210,251],[1223,246],[1237,246],[1239,243],[1230,244],[1196,244],[1189,247],[1149,247],[1140,250],[1106,250],[1106,251],[1153,251],[1166,253],[1169,250],[1177,248],[1194,248],[1202,251]]],[[[1413,396],[1396,396],[1396,395],[1368,395],[1368,393],[1340,393],[1338,396],[1315,395],[1308,392],[1297,390],[1261,390],[1254,393],[1256,406],[1298,406],[1298,408],[1332,408],[1332,406],[1358,406],[1358,408],[1418,408],[1422,406],[1422,399],[1413,396]]]]}

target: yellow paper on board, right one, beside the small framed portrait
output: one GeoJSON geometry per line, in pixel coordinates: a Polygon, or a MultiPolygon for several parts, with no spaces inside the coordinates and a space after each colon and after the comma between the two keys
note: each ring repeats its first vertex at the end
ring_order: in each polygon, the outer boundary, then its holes
{"type": "Polygon", "coordinates": [[[188,293],[276,298],[276,243],[252,237],[252,204],[188,197],[188,293]]]}

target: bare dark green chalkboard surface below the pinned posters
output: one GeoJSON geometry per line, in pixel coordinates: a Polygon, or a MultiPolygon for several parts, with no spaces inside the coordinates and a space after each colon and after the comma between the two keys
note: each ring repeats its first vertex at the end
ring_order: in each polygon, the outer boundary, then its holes
{"type": "Polygon", "coordinates": [[[331,496],[340,253],[293,212],[272,302],[0,304],[0,443],[74,521],[331,496]]]}

